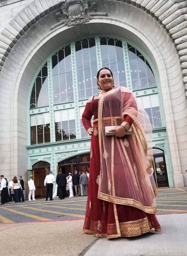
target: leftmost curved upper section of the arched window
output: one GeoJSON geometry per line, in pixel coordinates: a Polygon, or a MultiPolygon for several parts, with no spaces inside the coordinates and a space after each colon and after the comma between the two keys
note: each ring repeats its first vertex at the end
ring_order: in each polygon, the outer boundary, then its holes
{"type": "Polygon", "coordinates": [[[30,108],[41,108],[49,105],[47,63],[41,68],[33,84],[30,108]]]}

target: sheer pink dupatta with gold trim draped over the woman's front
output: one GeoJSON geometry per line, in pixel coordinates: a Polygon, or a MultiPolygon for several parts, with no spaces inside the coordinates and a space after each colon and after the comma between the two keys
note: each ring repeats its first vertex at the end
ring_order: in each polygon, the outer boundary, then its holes
{"type": "Polygon", "coordinates": [[[146,111],[138,109],[127,88],[115,88],[100,98],[98,136],[101,161],[98,198],[154,214],[156,186],[152,178],[151,184],[152,158],[151,150],[147,150],[151,145],[147,146],[146,140],[151,142],[151,124],[146,111]],[[132,134],[123,138],[105,136],[105,126],[121,124],[124,115],[133,119],[132,134]]]}

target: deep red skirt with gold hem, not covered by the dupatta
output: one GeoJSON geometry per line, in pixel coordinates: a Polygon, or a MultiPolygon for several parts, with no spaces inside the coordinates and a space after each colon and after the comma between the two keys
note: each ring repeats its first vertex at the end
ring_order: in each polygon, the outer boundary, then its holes
{"type": "Polygon", "coordinates": [[[98,199],[98,176],[100,175],[100,151],[97,131],[91,138],[91,159],[83,231],[96,237],[133,237],[161,227],[155,214],[148,214],[128,205],[106,202],[98,199]],[[115,209],[115,210],[114,210],[115,209]],[[115,212],[117,213],[116,222],[115,212]]]}

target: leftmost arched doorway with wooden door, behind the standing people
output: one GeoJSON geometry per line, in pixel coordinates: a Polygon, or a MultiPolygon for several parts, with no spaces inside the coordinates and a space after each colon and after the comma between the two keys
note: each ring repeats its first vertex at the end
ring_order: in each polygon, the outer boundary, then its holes
{"type": "Polygon", "coordinates": [[[49,171],[50,164],[44,161],[34,164],[32,170],[27,170],[27,180],[29,180],[29,176],[33,175],[33,180],[36,187],[36,198],[45,197],[46,189],[44,186],[44,180],[45,176],[49,174],[49,171]]]}

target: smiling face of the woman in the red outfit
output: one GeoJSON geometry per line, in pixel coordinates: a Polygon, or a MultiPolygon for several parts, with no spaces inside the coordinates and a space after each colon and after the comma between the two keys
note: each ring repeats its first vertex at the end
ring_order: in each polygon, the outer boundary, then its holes
{"type": "Polygon", "coordinates": [[[100,86],[101,90],[108,91],[111,90],[114,85],[114,79],[108,69],[102,69],[100,71],[100,76],[97,80],[98,85],[100,86]]]}

